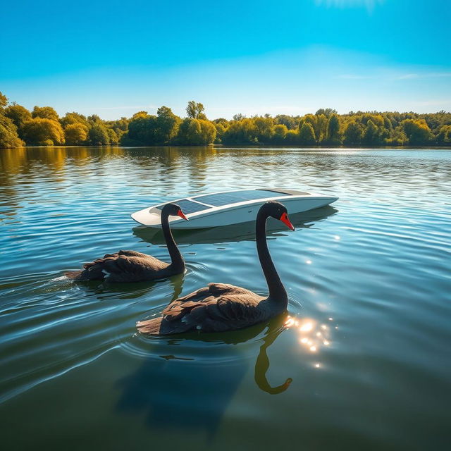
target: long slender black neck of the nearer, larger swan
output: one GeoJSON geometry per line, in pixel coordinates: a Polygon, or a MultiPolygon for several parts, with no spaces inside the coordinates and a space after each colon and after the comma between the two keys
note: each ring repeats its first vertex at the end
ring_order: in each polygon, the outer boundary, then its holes
{"type": "Polygon", "coordinates": [[[266,219],[268,214],[259,211],[257,215],[257,221],[255,226],[255,236],[257,240],[257,252],[259,254],[259,260],[261,269],[263,269],[266,283],[268,284],[269,297],[279,304],[288,304],[288,296],[285,291],[285,287],[280,281],[280,277],[276,271],[276,267],[273,264],[271,255],[268,250],[268,243],[266,242],[266,219]]]}

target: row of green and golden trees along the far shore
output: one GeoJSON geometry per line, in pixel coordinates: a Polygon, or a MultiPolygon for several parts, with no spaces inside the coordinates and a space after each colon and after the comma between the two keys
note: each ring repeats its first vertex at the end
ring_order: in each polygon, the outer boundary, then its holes
{"type": "Polygon", "coordinates": [[[286,146],[402,146],[451,145],[451,113],[398,113],[319,109],[314,114],[272,117],[235,114],[209,121],[204,106],[188,102],[180,118],[168,106],[156,115],[138,111],[131,118],[104,121],[96,114],[66,113],[51,106],[32,111],[0,92],[0,148],[24,145],[257,145],[286,146]]]}

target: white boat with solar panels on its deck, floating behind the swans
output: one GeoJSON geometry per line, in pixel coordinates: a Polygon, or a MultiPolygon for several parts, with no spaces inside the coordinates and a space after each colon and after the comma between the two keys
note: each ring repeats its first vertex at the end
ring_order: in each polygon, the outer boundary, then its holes
{"type": "MultiPolygon", "coordinates": [[[[256,188],[254,190],[233,190],[194,194],[191,197],[175,199],[190,221],[170,216],[173,229],[209,228],[230,226],[231,224],[254,221],[264,202],[276,200],[284,204],[288,214],[318,209],[332,204],[338,197],[325,196],[314,192],[285,190],[285,188],[256,188]]],[[[161,228],[161,209],[168,202],[136,211],[131,216],[143,226],[161,228]]]]}

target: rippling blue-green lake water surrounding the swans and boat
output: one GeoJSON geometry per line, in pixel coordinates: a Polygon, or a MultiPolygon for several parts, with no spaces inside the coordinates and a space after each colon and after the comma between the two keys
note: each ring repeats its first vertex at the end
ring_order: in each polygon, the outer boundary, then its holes
{"type": "Polygon", "coordinates": [[[449,445],[451,152],[43,147],[0,163],[3,449],[449,445]],[[252,224],[176,233],[185,277],[63,276],[118,249],[167,260],[133,211],[259,186],[340,197],[268,232],[290,327],[136,333],[209,282],[264,293],[252,224]]]}

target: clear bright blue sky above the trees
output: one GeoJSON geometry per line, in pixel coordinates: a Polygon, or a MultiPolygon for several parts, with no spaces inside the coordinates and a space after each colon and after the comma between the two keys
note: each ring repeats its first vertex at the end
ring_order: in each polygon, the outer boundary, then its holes
{"type": "Polygon", "coordinates": [[[59,1],[1,8],[0,91],[27,108],[209,118],[451,110],[450,0],[59,1]]]}

